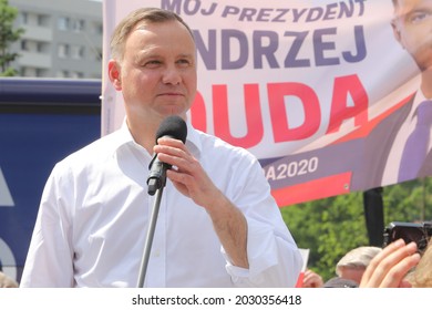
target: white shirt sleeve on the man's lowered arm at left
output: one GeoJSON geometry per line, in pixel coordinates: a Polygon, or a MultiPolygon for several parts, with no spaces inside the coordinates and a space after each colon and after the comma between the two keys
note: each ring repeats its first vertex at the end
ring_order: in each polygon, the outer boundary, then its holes
{"type": "Polygon", "coordinates": [[[71,225],[56,168],[43,189],[20,287],[73,287],[71,225]]]}

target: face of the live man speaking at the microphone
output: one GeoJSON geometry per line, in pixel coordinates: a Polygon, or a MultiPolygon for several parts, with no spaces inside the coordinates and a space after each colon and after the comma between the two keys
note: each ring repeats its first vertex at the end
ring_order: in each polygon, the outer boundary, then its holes
{"type": "Polygon", "coordinates": [[[195,43],[177,21],[138,24],[117,63],[128,122],[184,116],[196,93],[195,43]]]}

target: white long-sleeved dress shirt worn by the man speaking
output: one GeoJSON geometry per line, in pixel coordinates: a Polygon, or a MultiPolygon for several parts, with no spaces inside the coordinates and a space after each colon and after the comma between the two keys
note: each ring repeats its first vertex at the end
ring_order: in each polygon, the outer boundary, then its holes
{"type": "MultiPolygon", "coordinates": [[[[245,214],[249,269],[229,262],[205,209],[167,180],[144,286],[294,287],[301,256],[257,159],[189,124],[186,145],[245,214]]],[[[155,198],[151,159],[123,125],[58,163],[21,287],[136,287],[155,198]]]]}

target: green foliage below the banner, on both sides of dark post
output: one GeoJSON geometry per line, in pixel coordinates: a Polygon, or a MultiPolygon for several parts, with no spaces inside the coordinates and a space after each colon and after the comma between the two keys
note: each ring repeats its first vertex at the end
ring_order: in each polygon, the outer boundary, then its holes
{"type": "MultiPolygon", "coordinates": [[[[383,188],[384,223],[432,219],[432,178],[383,188]]],[[[350,249],[368,246],[362,193],[287,206],[280,209],[299,248],[310,249],[308,268],[325,280],[350,249]]]]}

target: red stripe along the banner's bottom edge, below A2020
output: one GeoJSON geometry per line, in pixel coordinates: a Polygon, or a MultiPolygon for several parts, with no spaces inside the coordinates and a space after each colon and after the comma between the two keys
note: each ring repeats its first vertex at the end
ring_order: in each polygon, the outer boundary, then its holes
{"type": "Polygon", "coordinates": [[[271,190],[279,207],[350,193],[351,172],[271,190]]]}

